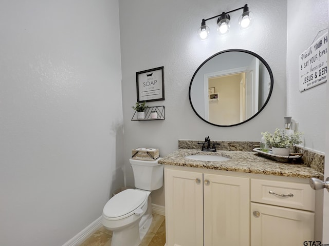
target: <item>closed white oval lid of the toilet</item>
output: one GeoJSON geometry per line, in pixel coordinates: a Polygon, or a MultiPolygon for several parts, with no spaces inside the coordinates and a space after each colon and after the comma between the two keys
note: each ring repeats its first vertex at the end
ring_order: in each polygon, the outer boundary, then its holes
{"type": "Polygon", "coordinates": [[[109,218],[116,218],[129,214],[137,209],[147,199],[147,193],[139,190],[124,190],[107,201],[103,214],[109,218]]]}

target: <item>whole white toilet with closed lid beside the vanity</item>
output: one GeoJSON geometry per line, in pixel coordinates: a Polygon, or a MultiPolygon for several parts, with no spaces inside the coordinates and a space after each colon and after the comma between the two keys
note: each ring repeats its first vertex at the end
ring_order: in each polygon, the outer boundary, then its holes
{"type": "Polygon", "coordinates": [[[129,159],[136,189],[126,189],[109,199],[103,209],[102,224],[112,231],[112,246],[138,246],[152,222],[151,191],[163,184],[163,165],[129,159]]]}

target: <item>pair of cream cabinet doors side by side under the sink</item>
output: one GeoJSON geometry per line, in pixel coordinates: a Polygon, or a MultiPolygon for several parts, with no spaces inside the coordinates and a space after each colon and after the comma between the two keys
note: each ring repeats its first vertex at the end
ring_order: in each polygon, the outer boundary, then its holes
{"type": "Polygon", "coordinates": [[[166,168],[166,245],[249,245],[249,183],[166,168]]]}

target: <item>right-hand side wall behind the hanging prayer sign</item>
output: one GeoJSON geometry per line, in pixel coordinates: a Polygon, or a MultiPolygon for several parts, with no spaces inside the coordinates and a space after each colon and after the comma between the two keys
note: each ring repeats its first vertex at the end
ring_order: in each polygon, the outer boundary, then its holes
{"type": "Polygon", "coordinates": [[[289,0],[287,12],[287,115],[299,122],[304,147],[325,152],[327,83],[299,92],[298,63],[318,32],[328,28],[328,1],[289,0]]]}

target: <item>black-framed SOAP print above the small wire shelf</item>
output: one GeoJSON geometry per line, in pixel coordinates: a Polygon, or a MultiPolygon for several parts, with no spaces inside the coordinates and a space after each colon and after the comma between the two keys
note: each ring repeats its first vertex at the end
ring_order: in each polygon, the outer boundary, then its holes
{"type": "Polygon", "coordinates": [[[136,72],[137,101],[165,100],[163,67],[136,72]]]}

